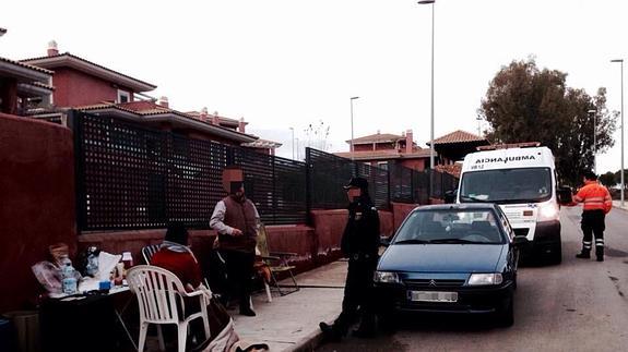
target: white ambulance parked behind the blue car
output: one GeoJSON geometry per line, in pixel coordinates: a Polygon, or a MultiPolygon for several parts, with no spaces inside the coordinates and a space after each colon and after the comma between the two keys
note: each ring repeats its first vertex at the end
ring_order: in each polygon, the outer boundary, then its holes
{"type": "Polygon", "coordinates": [[[560,220],[554,155],[538,143],[479,147],[466,155],[458,203],[496,203],[532,256],[560,263],[560,220]]]}

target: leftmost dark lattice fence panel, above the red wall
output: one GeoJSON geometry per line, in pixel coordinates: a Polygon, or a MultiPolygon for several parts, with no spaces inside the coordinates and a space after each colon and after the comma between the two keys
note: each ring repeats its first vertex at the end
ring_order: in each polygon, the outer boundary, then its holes
{"type": "Polygon", "coordinates": [[[163,227],[167,220],[166,135],[107,117],[81,116],[79,124],[81,229],[163,227]]]}

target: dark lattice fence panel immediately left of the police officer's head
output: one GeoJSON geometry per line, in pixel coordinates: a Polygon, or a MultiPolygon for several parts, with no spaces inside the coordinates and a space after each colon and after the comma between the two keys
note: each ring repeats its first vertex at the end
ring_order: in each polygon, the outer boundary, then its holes
{"type": "Polygon", "coordinates": [[[351,160],[307,148],[306,163],[309,167],[311,209],[346,208],[348,201],[343,185],[355,174],[351,160]]]}

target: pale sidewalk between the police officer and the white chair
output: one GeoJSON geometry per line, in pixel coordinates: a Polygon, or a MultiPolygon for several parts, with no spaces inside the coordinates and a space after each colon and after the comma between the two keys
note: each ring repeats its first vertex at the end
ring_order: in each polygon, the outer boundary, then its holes
{"type": "MultiPolygon", "coordinates": [[[[320,342],[320,321],[332,321],[341,311],[346,262],[334,262],[296,277],[301,289],[273,302],[253,296],[256,317],[229,311],[242,340],[268,343],[271,351],[311,351],[320,342]]],[[[285,281],[287,286],[288,282],[285,281]]]]}

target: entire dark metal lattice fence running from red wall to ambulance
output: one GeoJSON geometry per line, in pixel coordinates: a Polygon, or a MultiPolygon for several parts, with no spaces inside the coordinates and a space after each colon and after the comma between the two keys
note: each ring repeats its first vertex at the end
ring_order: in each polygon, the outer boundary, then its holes
{"type": "Polygon", "coordinates": [[[239,165],[247,196],[266,224],[305,223],[310,209],[346,207],[342,186],[355,175],[369,181],[375,205],[427,204],[455,187],[449,174],[388,169],[307,148],[306,162],[176,133],[146,129],[107,116],[72,111],[80,231],[164,228],[181,221],[209,228],[225,196],[222,171],[239,165]]]}

